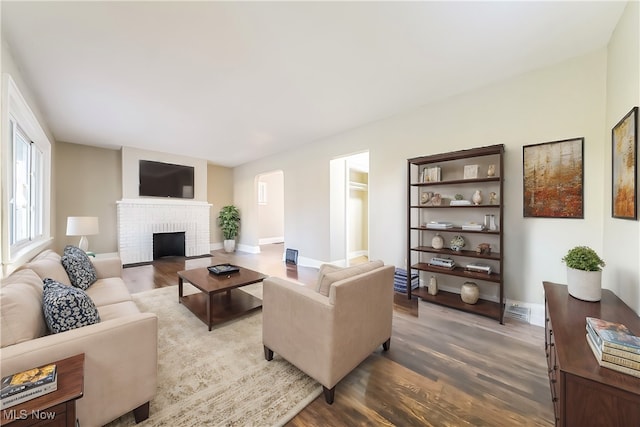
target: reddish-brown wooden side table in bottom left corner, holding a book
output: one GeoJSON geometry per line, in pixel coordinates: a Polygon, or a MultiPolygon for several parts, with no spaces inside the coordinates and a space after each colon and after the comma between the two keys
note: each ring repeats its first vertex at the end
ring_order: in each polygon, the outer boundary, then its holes
{"type": "Polygon", "coordinates": [[[2,410],[0,425],[76,427],[76,400],[84,389],[84,353],[53,362],[58,389],[2,410]]]}

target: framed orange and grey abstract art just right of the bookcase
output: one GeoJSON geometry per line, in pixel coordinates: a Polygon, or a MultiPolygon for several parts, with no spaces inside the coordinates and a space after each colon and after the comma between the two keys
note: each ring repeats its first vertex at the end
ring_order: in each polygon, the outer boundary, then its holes
{"type": "Polygon", "coordinates": [[[525,145],[523,215],[584,218],[584,138],[525,145]]]}

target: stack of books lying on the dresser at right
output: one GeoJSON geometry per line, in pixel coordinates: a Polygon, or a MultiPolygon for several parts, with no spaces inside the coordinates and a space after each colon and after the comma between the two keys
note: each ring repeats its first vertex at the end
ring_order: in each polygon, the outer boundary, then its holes
{"type": "Polygon", "coordinates": [[[622,323],[587,317],[587,342],[600,366],[640,378],[640,337],[622,323]]]}

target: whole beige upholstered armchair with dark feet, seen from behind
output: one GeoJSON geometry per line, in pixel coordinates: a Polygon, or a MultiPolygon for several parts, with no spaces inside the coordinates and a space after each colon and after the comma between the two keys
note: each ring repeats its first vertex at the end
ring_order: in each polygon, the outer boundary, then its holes
{"type": "Polygon", "coordinates": [[[389,349],[393,266],[381,261],[321,268],[316,289],[286,279],[264,280],[262,341],[322,384],[332,404],[336,384],[379,345],[389,349]],[[328,295],[323,295],[328,293],[328,295]]]}

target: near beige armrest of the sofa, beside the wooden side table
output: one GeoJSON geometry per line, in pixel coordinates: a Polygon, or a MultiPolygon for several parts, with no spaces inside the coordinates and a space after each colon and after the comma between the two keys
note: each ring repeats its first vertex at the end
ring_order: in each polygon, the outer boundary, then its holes
{"type": "Polygon", "coordinates": [[[5,347],[1,375],[85,354],[80,425],[98,426],[148,402],[157,388],[158,319],[140,313],[5,347]]]}

